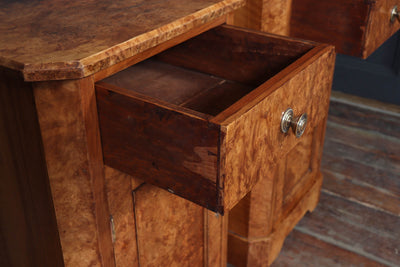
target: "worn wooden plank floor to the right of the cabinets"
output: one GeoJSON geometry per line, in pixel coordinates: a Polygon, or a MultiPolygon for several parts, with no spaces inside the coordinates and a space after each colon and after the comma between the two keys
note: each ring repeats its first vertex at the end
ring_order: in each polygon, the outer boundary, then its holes
{"type": "Polygon", "coordinates": [[[322,172],[272,266],[400,266],[400,107],[334,93],[322,172]]]}

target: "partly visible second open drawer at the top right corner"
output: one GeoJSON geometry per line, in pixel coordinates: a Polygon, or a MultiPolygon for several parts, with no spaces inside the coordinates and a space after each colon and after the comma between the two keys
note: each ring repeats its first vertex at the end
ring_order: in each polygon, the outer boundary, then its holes
{"type": "Polygon", "coordinates": [[[390,22],[398,0],[293,0],[290,36],[333,44],[338,53],[367,58],[399,28],[390,22]]]}

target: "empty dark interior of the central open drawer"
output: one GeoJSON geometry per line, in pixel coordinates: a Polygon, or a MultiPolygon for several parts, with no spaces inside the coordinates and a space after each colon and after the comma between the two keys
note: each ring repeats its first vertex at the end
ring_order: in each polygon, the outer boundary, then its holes
{"type": "Polygon", "coordinates": [[[220,26],[103,82],[216,116],[313,47],[220,26]]]}

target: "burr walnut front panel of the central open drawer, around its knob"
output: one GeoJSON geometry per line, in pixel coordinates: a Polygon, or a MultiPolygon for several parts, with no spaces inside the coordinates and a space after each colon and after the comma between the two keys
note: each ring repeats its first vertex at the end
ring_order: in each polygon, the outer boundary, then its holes
{"type": "Polygon", "coordinates": [[[334,58],[333,50],[316,54],[302,70],[296,69],[278,82],[266,82],[260,88],[272,93],[265,98],[255,97],[254,106],[247,111],[243,106],[222,123],[226,125],[226,136],[221,149],[221,155],[225,155],[221,175],[225,179],[223,187],[230,192],[224,198],[225,207],[233,207],[260,177],[269,176],[270,166],[302,139],[291,130],[287,134],[281,132],[282,112],[291,107],[296,116],[308,114],[304,135],[326,117],[334,58]]]}

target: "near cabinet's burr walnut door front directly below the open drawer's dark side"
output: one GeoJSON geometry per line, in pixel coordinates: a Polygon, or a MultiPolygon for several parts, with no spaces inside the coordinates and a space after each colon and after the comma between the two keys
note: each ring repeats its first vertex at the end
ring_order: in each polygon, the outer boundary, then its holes
{"type": "Polygon", "coordinates": [[[116,266],[226,266],[227,215],[106,167],[116,266]]]}

